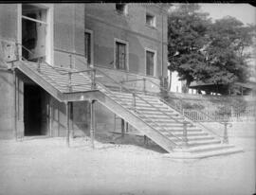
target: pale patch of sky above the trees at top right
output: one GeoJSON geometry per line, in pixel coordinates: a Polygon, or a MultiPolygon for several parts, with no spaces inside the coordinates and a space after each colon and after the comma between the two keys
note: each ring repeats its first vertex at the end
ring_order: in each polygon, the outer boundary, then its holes
{"type": "Polygon", "coordinates": [[[245,25],[256,25],[256,8],[249,4],[199,4],[201,9],[210,13],[210,17],[220,19],[224,16],[233,16],[245,25]]]}

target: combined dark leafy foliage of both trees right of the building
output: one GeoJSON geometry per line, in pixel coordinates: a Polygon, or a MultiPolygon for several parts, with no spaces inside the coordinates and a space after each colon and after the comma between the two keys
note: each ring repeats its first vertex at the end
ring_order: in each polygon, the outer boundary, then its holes
{"type": "Polygon", "coordinates": [[[169,69],[189,86],[193,80],[214,84],[246,81],[247,47],[255,27],[233,17],[210,20],[196,4],[180,5],[168,18],[169,69]]]}

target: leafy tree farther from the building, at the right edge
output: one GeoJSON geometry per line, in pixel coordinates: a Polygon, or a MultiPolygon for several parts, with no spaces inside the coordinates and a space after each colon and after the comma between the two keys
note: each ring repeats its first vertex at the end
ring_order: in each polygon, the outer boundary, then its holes
{"type": "Polygon", "coordinates": [[[227,16],[210,26],[210,44],[205,49],[210,71],[203,81],[230,84],[249,78],[247,48],[252,45],[254,27],[245,27],[236,18],[227,16]]]}

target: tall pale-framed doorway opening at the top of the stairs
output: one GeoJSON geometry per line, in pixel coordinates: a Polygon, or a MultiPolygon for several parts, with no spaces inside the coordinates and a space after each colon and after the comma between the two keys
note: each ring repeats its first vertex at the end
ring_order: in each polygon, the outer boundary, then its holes
{"type": "Polygon", "coordinates": [[[17,39],[23,45],[19,55],[30,62],[43,60],[52,63],[53,5],[18,5],[18,18],[17,39]]]}

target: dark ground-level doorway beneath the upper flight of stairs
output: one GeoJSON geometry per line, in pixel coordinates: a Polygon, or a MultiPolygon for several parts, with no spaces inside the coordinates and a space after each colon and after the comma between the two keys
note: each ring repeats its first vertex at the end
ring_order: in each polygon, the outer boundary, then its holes
{"type": "Polygon", "coordinates": [[[47,98],[46,92],[36,84],[24,84],[25,136],[46,135],[47,98]]]}

